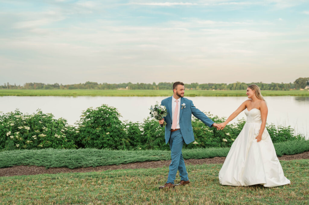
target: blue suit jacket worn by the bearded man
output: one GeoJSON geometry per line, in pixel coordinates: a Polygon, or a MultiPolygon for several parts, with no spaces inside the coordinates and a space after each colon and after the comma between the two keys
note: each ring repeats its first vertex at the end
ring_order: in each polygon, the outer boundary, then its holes
{"type": "MultiPolygon", "coordinates": [[[[161,105],[164,105],[167,109],[167,116],[164,117],[164,121],[167,123],[165,125],[165,143],[167,144],[171,136],[171,126],[172,126],[172,96],[162,100],[161,105]]],[[[180,98],[180,116],[179,125],[184,142],[189,144],[194,141],[194,134],[192,129],[191,118],[192,114],[199,120],[205,123],[205,125],[212,127],[214,122],[210,120],[203,112],[197,109],[192,100],[181,97],[180,98]],[[185,108],[182,108],[182,104],[186,104],[185,108]]],[[[161,125],[162,126],[162,125],[161,125]]]]}

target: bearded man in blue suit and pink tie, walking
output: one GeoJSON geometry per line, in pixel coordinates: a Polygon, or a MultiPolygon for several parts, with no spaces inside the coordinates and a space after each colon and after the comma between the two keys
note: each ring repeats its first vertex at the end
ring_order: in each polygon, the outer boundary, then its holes
{"type": "Polygon", "coordinates": [[[194,141],[194,135],[191,125],[192,114],[209,127],[219,128],[218,124],[210,120],[203,112],[195,108],[192,100],[184,98],[184,83],[175,82],[173,84],[173,96],[162,100],[161,105],[167,108],[167,116],[159,120],[159,124],[165,126],[165,142],[170,145],[171,164],[169,166],[167,182],[159,189],[171,188],[178,185],[190,183],[184,158],[182,157],[182,146],[194,141]],[[179,170],[180,183],[174,184],[176,173],[179,170]]]}

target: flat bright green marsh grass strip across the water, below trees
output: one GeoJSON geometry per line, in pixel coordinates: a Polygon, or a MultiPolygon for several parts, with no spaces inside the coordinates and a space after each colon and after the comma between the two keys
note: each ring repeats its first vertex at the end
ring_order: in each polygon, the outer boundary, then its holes
{"type": "MultiPolygon", "coordinates": [[[[14,90],[0,89],[0,96],[171,96],[172,90],[14,90]]],[[[306,90],[262,90],[263,96],[309,96],[306,90]]],[[[246,96],[245,90],[186,90],[185,96],[246,96]]]]}

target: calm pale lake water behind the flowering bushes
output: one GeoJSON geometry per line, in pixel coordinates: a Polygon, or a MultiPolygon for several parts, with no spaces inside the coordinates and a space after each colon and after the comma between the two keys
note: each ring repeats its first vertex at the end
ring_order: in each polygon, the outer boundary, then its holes
{"type": "MultiPolygon", "coordinates": [[[[121,120],[143,121],[149,116],[149,107],[166,97],[108,97],[108,96],[0,96],[0,111],[7,113],[18,108],[22,113],[34,113],[40,108],[56,118],[67,119],[73,125],[80,119],[82,111],[102,104],[116,107],[121,120]]],[[[201,111],[220,117],[228,117],[246,97],[187,97],[201,111]]],[[[309,97],[266,96],[268,123],[290,125],[298,133],[309,136],[309,97]]],[[[244,112],[236,119],[246,117],[244,112]]],[[[235,122],[236,119],[232,121],[235,122]]]]}

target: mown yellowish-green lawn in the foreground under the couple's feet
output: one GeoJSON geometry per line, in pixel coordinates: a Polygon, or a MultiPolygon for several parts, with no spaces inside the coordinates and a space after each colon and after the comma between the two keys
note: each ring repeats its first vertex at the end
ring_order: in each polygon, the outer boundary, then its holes
{"type": "Polygon", "coordinates": [[[0,177],[0,204],[308,204],[309,160],[281,165],[291,184],[273,188],[220,185],[222,164],[187,165],[191,183],[169,190],[158,189],[168,166],[0,177]]]}

